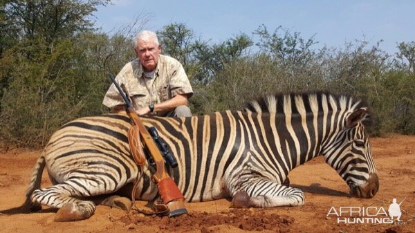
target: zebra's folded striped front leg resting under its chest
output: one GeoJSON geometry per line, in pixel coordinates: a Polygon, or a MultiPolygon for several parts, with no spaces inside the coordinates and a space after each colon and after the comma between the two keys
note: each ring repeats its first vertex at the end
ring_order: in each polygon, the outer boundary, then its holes
{"type": "Polygon", "coordinates": [[[304,205],[301,189],[278,184],[268,178],[252,177],[243,182],[229,182],[231,207],[276,207],[304,205]]]}

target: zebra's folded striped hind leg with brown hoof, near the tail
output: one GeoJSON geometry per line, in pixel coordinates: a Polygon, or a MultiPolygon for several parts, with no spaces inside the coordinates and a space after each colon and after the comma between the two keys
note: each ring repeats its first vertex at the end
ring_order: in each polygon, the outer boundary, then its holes
{"type": "MultiPolygon", "coordinates": [[[[44,189],[36,189],[30,197],[33,203],[59,208],[55,221],[78,221],[89,218],[95,211],[92,201],[83,201],[73,196],[94,196],[104,194],[100,186],[89,185],[88,190],[80,190],[83,180],[73,179],[44,189]],[[75,188],[75,187],[78,187],[75,188]]],[[[84,189],[84,188],[83,188],[84,189]]]]}

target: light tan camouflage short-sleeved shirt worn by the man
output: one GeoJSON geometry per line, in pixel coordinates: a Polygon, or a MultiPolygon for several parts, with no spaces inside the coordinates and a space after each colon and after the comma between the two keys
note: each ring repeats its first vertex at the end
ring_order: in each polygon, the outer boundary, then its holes
{"type": "MultiPolygon", "coordinates": [[[[122,68],[116,80],[136,110],[150,103],[164,102],[177,94],[187,94],[187,97],[193,95],[183,66],[176,59],[165,55],[159,55],[154,77],[145,77],[140,60],[134,59],[122,68]]],[[[114,84],[109,87],[102,104],[110,109],[125,105],[114,84]]]]}

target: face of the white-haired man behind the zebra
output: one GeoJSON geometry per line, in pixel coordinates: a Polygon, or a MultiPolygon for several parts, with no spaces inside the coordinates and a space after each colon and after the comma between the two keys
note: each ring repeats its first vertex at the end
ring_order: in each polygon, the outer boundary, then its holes
{"type": "Polygon", "coordinates": [[[161,53],[161,46],[151,40],[139,40],[134,50],[136,50],[136,55],[140,59],[145,71],[154,71],[158,62],[158,55],[161,53]]]}

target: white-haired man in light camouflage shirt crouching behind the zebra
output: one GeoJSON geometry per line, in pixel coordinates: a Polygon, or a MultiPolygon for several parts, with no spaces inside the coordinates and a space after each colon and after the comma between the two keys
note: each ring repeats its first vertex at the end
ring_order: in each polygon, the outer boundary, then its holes
{"type": "MultiPolygon", "coordinates": [[[[187,101],[193,90],[180,62],[160,55],[161,46],[154,32],[138,33],[135,42],[137,58],[122,68],[116,80],[137,114],[192,116],[187,101]]],[[[102,104],[112,112],[124,110],[124,100],[114,84],[109,87],[102,104]]]]}

